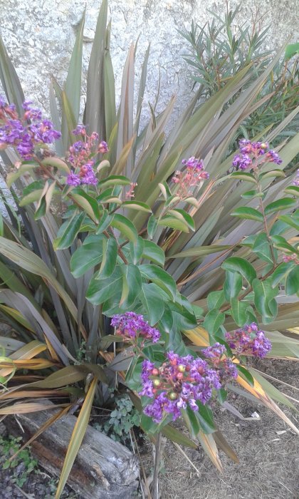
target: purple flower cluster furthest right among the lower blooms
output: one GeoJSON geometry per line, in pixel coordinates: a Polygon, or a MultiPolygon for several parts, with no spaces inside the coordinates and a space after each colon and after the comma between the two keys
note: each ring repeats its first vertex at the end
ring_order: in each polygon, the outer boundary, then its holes
{"type": "Polygon", "coordinates": [[[258,329],[255,322],[242,329],[227,332],[226,341],[238,355],[249,354],[262,359],[271,350],[271,341],[266,338],[264,331],[258,329]]]}

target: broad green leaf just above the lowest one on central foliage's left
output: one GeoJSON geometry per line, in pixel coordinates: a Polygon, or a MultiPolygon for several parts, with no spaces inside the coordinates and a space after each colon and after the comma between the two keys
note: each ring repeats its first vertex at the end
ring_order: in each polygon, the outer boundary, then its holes
{"type": "Polygon", "coordinates": [[[98,236],[94,242],[85,244],[75,250],[70,259],[70,272],[77,279],[102,260],[103,236],[98,236]]]}

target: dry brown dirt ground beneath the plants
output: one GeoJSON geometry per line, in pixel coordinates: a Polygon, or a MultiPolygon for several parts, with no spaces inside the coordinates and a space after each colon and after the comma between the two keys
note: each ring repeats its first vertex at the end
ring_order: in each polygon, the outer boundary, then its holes
{"type": "MultiPolygon", "coordinates": [[[[299,400],[299,362],[264,360],[256,367],[297,386],[295,391],[276,384],[284,393],[299,400]]],[[[202,451],[184,448],[199,471],[196,473],[187,458],[168,442],[159,478],[161,499],[299,499],[299,437],[268,408],[241,396],[230,401],[244,417],[254,411],[261,416],[260,421],[241,421],[228,411],[216,413],[216,423],[238,454],[240,463],[233,463],[220,453],[224,465],[224,475],[220,475],[202,451]]],[[[299,404],[295,405],[299,408],[299,404]]],[[[288,408],[284,411],[299,426],[299,415],[288,408]]],[[[140,449],[147,475],[152,468],[151,447],[145,443],[140,449]]],[[[0,469],[0,499],[53,498],[53,485],[50,487],[48,480],[45,475],[31,475],[23,485],[24,495],[11,483],[9,471],[0,469]]],[[[63,498],[74,497],[70,491],[63,495],[63,498]]]]}

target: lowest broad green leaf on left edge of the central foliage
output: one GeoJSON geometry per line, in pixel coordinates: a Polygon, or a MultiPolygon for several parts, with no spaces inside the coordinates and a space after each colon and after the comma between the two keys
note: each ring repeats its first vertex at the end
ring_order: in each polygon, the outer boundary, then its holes
{"type": "Polygon", "coordinates": [[[122,271],[115,267],[115,271],[107,279],[95,279],[93,277],[88,286],[86,299],[93,305],[100,305],[112,297],[122,287],[122,271]]]}

